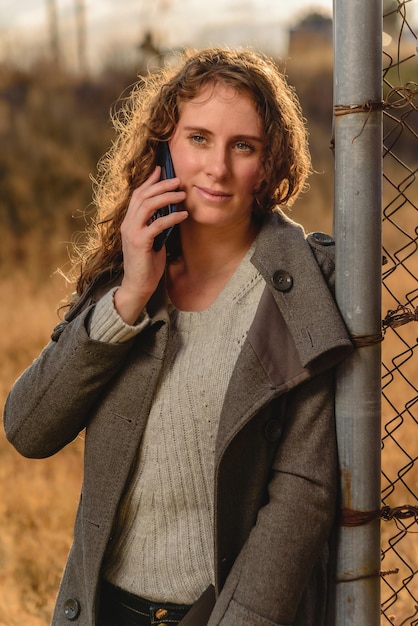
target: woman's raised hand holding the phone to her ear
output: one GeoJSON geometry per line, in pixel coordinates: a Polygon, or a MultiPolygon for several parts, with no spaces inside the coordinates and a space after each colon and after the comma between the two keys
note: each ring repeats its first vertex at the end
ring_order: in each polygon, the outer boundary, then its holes
{"type": "Polygon", "coordinates": [[[154,238],[166,228],[187,218],[187,211],[176,211],[153,222],[157,209],[169,203],[183,202],[186,194],[176,191],[178,178],[160,181],[161,168],[135,189],[121,225],[124,276],[115,294],[115,306],[127,324],[134,324],[163,275],[166,264],[165,246],[156,252],[154,238]]]}

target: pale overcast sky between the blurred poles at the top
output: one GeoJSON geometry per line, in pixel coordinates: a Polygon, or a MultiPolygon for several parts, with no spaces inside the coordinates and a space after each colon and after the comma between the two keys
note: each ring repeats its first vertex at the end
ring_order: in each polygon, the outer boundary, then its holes
{"type": "MultiPolygon", "coordinates": [[[[227,27],[237,23],[242,37],[264,34],[281,54],[284,33],[301,13],[309,9],[332,11],[332,0],[85,0],[84,4],[87,58],[93,65],[112,50],[132,47],[146,30],[155,32],[167,48],[199,46],[202,37],[213,39],[214,33],[219,41],[203,41],[203,45],[242,43],[228,41],[232,31],[227,27]]],[[[1,58],[48,51],[47,5],[48,0],[0,0],[1,58]]],[[[68,57],[75,55],[75,5],[76,0],[56,0],[61,45],[68,57]]]]}

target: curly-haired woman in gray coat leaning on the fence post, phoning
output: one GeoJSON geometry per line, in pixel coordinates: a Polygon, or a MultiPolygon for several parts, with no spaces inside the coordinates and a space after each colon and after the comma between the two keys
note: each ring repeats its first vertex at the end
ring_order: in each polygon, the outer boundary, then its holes
{"type": "Polygon", "coordinates": [[[296,97],[269,59],[209,49],[116,127],[77,299],[5,409],[28,457],[86,429],[53,625],[321,626],[351,343],[332,240],[279,208],[310,170],[296,97]]]}

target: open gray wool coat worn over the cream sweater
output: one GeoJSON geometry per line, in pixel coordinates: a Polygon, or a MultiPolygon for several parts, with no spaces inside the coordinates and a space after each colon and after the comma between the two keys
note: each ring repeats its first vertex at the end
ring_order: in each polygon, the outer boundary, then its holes
{"type": "MultiPolygon", "coordinates": [[[[323,626],[337,492],[334,367],[352,349],[332,296],[333,242],[281,213],[252,262],[266,285],[226,393],[215,458],[215,590],[209,626],[323,626]],[[325,277],[325,279],[324,279],[325,277]]],[[[122,344],[89,338],[93,285],[12,388],[8,439],[42,458],[85,432],[74,542],[53,626],[93,626],[118,503],[159,377],[169,321],[122,344]]],[[[203,625],[202,625],[203,626],[203,625]]]]}

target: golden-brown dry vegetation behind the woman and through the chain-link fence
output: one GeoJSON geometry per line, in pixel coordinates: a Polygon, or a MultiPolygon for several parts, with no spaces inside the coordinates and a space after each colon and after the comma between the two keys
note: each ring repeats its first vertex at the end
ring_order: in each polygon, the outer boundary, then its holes
{"type": "MultiPolygon", "coordinates": [[[[319,172],[291,216],[307,230],[330,232],[330,58],[312,55],[308,62],[306,58],[303,62],[294,59],[287,71],[308,119],[314,168],[319,172]]],[[[55,270],[65,265],[68,242],[85,225],[89,174],[94,174],[98,158],[112,139],[109,107],[135,73],[109,73],[82,80],[64,72],[48,73],[42,67],[28,72],[0,67],[1,405],[15,378],[37,356],[58,321],[56,309],[68,286],[55,270]]],[[[406,221],[412,233],[416,212],[406,221]]],[[[402,245],[402,236],[396,232],[390,230],[387,236],[392,250],[402,245]]],[[[412,271],[418,276],[416,257],[412,271]]],[[[416,288],[409,275],[394,280],[402,301],[416,288]]],[[[387,298],[384,313],[393,306],[393,298],[387,298]]],[[[411,331],[403,332],[409,335],[411,331]]],[[[413,336],[406,341],[414,345],[413,336]]],[[[389,330],[384,344],[389,360],[403,349],[403,340],[389,330]]],[[[411,360],[407,376],[414,375],[411,360]]],[[[397,375],[391,383],[390,403],[384,403],[385,422],[395,419],[396,410],[402,410],[411,391],[397,375]]],[[[411,419],[409,422],[407,430],[399,430],[405,446],[415,438],[416,424],[411,419]]],[[[51,459],[27,460],[0,434],[0,626],[49,623],[71,543],[82,454],[83,442],[78,439],[51,459]]],[[[385,468],[391,480],[404,461],[402,456],[397,449],[386,455],[385,468]]],[[[403,504],[407,497],[402,490],[392,506],[403,504]]],[[[414,554],[417,552],[415,549],[414,554]]],[[[387,561],[390,565],[385,563],[385,569],[398,566],[390,555],[387,561]]],[[[407,598],[404,607],[398,604],[393,609],[394,623],[402,622],[410,606],[407,598]]]]}

